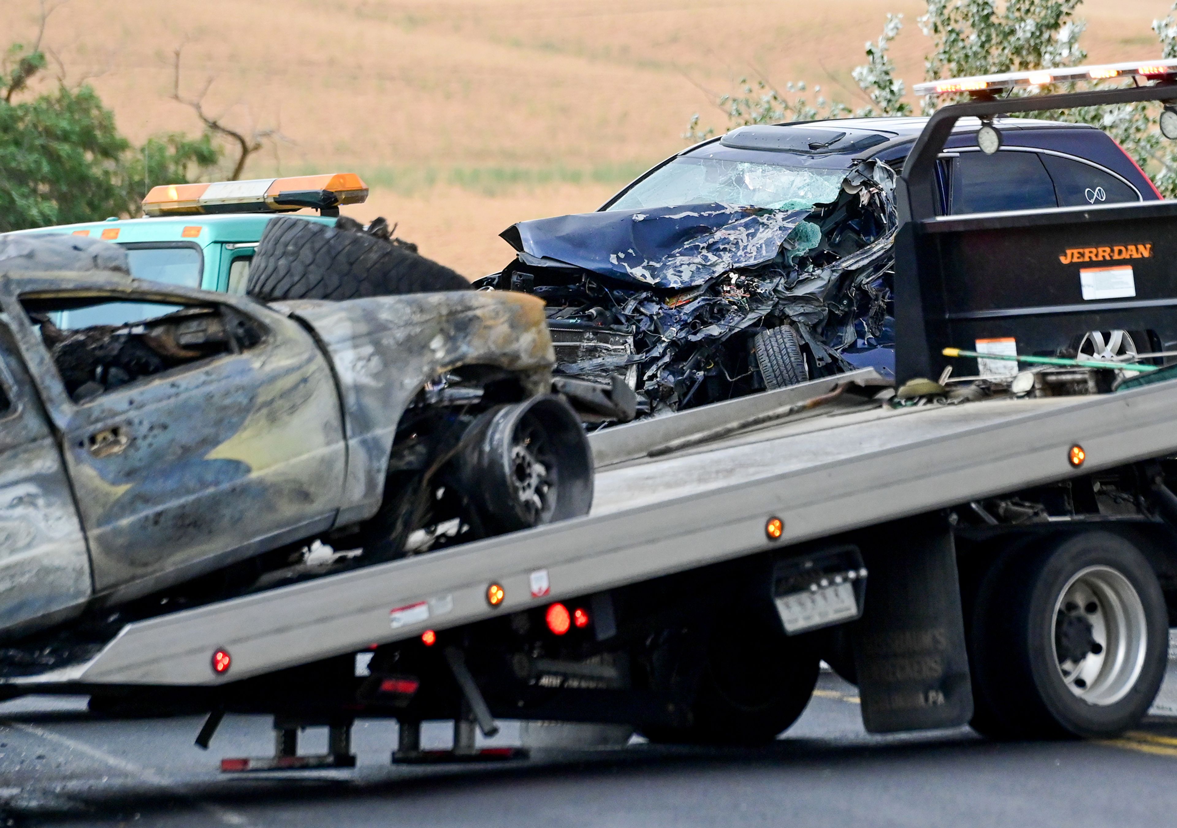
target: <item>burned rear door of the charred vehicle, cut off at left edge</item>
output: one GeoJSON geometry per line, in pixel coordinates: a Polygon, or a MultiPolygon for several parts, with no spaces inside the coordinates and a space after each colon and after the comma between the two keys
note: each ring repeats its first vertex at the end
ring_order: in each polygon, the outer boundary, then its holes
{"type": "Polygon", "coordinates": [[[0,629],[61,621],[89,596],[61,452],[0,314],[0,629]]]}

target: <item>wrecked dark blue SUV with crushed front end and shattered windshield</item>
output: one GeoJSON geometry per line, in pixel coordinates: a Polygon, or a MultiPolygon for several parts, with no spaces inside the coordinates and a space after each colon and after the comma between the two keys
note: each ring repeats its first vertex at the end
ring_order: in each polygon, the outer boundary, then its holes
{"type": "MultiPolygon", "coordinates": [[[[594,213],[512,226],[514,261],[476,285],[544,299],[557,372],[620,378],[645,414],[857,367],[890,374],[895,181],[925,120],[740,127],[594,213]]],[[[1098,129],[999,119],[1004,142],[982,153],[980,126],[962,121],[947,142],[940,214],[1159,198],[1098,129]]],[[[1131,338],[1077,347],[1112,340],[1131,338]]]]}

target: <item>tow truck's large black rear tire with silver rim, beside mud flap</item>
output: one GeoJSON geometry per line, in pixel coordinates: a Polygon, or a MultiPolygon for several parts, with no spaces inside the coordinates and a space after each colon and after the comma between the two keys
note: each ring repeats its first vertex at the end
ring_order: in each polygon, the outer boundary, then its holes
{"type": "Polygon", "coordinates": [[[1144,555],[1109,532],[998,560],[971,615],[971,723],[992,739],[1117,735],[1148,713],[1164,677],[1161,585],[1144,555]]]}

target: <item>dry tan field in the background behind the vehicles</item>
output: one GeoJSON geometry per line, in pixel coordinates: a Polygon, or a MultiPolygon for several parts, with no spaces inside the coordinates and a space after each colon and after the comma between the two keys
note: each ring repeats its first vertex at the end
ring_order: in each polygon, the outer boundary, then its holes
{"type": "MultiPolygon", "coordinates": [[[[692,113],[747,75],[858,103],[850,69],[886,12],[906,27],[900,75],[922,78],[912,0],[69,0],[46,45],[134,139],[197,132],[168,99],[210,84],[206,109],[284,140],[247,174],[357,171],[358,218],[387,215],[423,253],[477,276],[511,255],[513,221],[588,211],[684,146],[692,113]]],[[[1157,54],[1165,0],[1088,0],[1093,60],[1157,54]]],[[[35,31],[35,0],[2,0],[2,40],[35,31]]],[[[2,47],[4,44],[0,44],[2,47]]]]}

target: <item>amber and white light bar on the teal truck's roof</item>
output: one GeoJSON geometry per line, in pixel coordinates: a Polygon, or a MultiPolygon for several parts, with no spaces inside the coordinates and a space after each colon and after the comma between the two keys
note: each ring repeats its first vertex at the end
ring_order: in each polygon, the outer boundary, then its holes
{"type": "Polygon", "coordinates": [[[308,194],[321,193],[324,206],[358,205],[368,188],[355,173],[295,175],[285,179],[217,181],[213,183],[161,183],[144,199],[146,215],[201,213],[281,213],[307,206],[308,194]],[[299,202],[284,202],[298,194],[299,202]],[[326,203],[331,202],[333,203],[326,203]]]}

